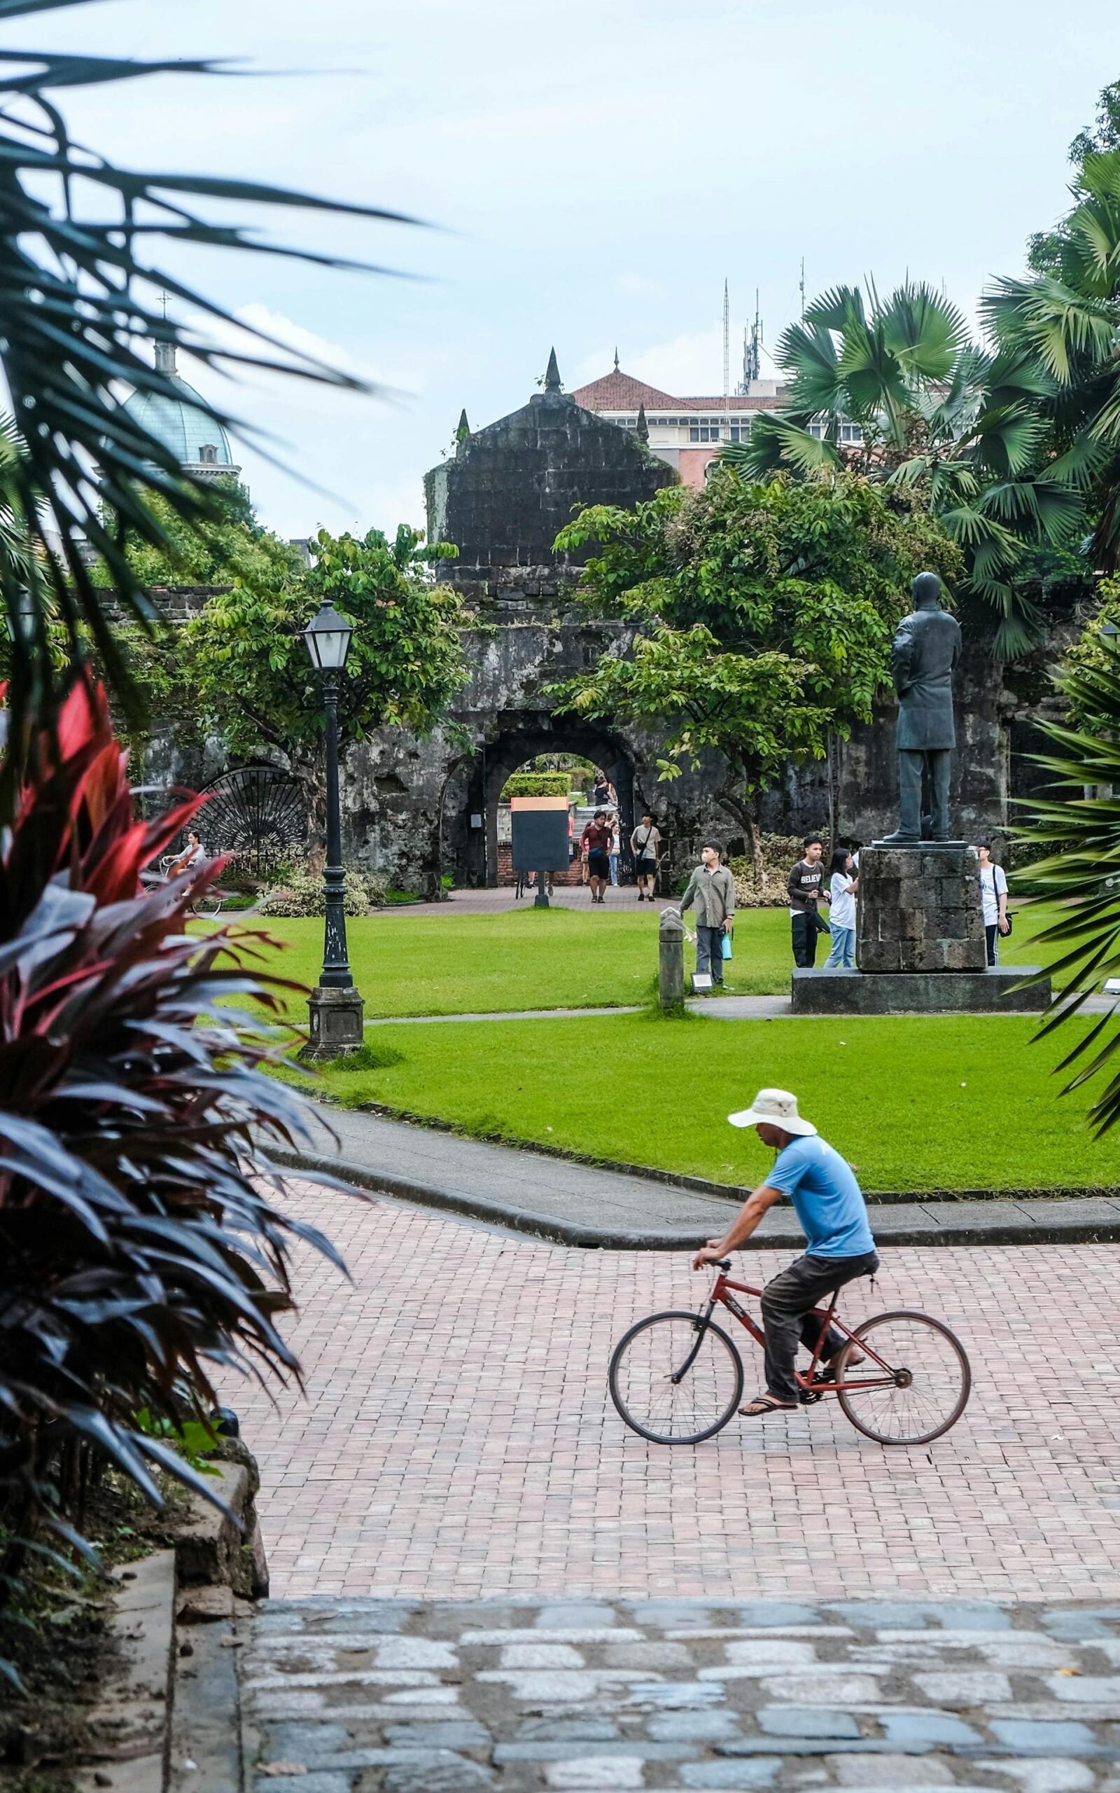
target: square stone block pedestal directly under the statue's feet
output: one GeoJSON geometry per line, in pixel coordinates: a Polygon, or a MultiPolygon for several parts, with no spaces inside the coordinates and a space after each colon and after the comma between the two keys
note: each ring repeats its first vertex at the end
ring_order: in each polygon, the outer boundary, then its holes
{"type": "Polygon", "coordinates": [[[982,972],[975,846],[866,846],[855,963],[860,972],[982,972]]]}

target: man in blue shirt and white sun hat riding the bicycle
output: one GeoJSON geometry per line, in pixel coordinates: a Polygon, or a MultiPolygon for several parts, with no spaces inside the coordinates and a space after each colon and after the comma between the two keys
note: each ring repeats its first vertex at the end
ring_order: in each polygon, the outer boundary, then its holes
{"type": "MultiPolygon", "coordinates": [[[[797,1343],[810,1352],[821,1343],[824,1368],[819,1381],[835,1381],[828,1366],[846,1345],[837,1327],[821,1339],[821,1321],[812,1318],[833,1289],[842,1289],[855,1277],[873,1277],[878,1269],[878,1252],[871,1237],[864,1194],[851,1165],[817,1133],[812,1121],[797,1113],[797,1097],[788,1090],[760,1090],[749,1108],[728,1115],[731,1126],[753,1126],[763,1146],[778,1156],[765,1183],[747,1196],[738,1217],[722,1239],[710,1239],[697,1252],[692,1268],[715,1264],[744,1244],[767,1208],[788,1196],[808,1252],[788,1269],[783,1269],[762,1291],[762,1321],[765,1330],[765,1391],[740,1408],[749,1418],[767,1413],[796,1413],[799,1390],[794,1377],[797,1343]]],[[[851,1363],[860,1363],[853,1357],[851,1363]]]]}

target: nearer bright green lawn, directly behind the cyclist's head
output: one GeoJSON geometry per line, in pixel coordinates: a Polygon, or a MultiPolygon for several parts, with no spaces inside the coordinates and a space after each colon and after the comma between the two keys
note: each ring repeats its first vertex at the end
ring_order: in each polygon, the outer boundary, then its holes
{"type": "Polygon", "coordinates": [[[371,1029],[364,1056],[396,1061],[340,1061],[324,1085],[470,1133],[735,1183],[769,1155],[726,1115],[778,1085],[869,1191],[1116,1182],[1120,1139],[1093,1144],[1084,1092],[1059,1101],[1059,1047],[1030,1035],[1012,1017],[441,1022],[371,1029]]]}

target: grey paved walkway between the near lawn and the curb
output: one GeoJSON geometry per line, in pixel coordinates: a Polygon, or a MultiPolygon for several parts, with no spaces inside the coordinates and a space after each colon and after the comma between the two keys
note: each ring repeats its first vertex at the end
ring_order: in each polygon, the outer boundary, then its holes
{"type": "MultiPolygon", "coordinates": [[[[744,1191],[695,1180],[627,1174],[511,1146],[489,1146],[439,1128],[353,1108],[321,1110],[310,1153],[272,1153],[287,1165],[332,1171],[364,1189],[513,1226],[561,1244],[663,1250],[722,1232],[744,1191]]],[[[1120,1239],[1120,1196],[993,1201],[880,1200],[874,1232],[883,1244],[923,1241],[1029,1243],[1120,1239]]],[[[758,1237],[799,1244],[788,1207],[771,1208],[758,1237]]]]}

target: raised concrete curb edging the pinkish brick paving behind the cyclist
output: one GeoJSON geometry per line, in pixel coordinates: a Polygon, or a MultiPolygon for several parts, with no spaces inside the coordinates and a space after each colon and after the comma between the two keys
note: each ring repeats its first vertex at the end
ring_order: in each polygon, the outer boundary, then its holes
{"type": "MultiPolygon", "coordinates": [[[[324,1158],[317,1153],[272,1148],[269,1158],[283,1169],[310,1176],[333,1176],[371,1194],[396,1196],[425,1208],[461,1214],[550,1244],[581,1246],[599,1252],[681,1252],[708,1237],[710,1223],[694,1228],[622,1230],[588,1226],[559,1214],[536,1214],[511,1203],[487,1201],[435,1183],[376,1171],[367,1164],[324,1158]]],[[[901,1207],[901,1203],[900,1203],[901,1207]]],[[[1095,1198],[1072,1201],[1032,1200],[1032,1207],[1052,1210],[1038,1217],[1023,1212],[1014,1200],[996,1201],[910,1201],[905,1216],[891,1217],[891,1205],[869,1203],[878,1244],[973,1246],[973,1244],[1106,1244],[1120,1241],[1120,1201],[1095,1198]],[[1109,1210],[1109,1212],[1102,1212],[1109,1210]]],[[[796,1223],[769,1223],[744,1250],[805,1246],[796,1223]]]]}

